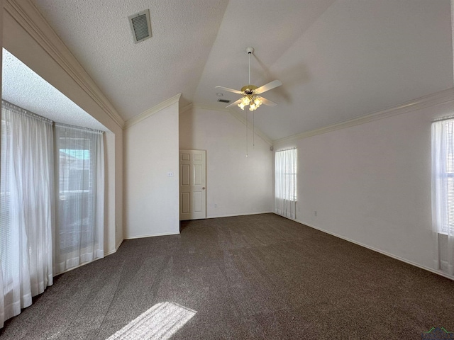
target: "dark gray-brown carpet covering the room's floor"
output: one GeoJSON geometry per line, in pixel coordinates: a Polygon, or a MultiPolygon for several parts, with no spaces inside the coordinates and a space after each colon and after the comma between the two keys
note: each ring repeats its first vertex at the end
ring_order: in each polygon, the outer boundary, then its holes
{"type": "Polygon", "coordinates": [[[454,331],[453,280],[262,214],[187,221],[180,235],[126,240],[116,254],[55,278],[0,335],[107,339],[163,302],[195,312],[172,339],[454,331]]]}

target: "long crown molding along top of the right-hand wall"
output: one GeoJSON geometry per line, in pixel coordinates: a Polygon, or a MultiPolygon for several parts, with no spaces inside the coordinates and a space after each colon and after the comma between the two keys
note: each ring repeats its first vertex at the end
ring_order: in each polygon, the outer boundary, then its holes
{"type": "Polygon", "coordinates": [[[297,135],[292,135],[289,137],[280,138],[278,140],[273,140],[272,145],[273,146],[282,145],[284,143],[294,142],[297,140],[302,140],[304,138],[308,138],[308,137],[312,137],[312,136],[316,136],[316,135],[322,135],[323,133],[341,130],[341,129],[345,129],[345,128],[350,128],[355,125],[370,123],[375,120],[389,118],[394,115],[402,115],[403,113],[409,113],[411,111],[421,110],[423,108],[428,108],[430,106],[435,106],[435,105],[442,104],[442,103],[449,103],[450,101],[454,101],[454,88],[436,92],[435,94],[429,94],[428,96],[416,98],[413,101],[407,101],[406,103],[402,103],[402,104],[399,104],[392,108],[384,109],[382,111],[377,111],[375,113],[363,115],[358,118],[345,120],[344,122],[341,122],[341,123],[328,125],[324,128],[301,132],[297,135]]]}

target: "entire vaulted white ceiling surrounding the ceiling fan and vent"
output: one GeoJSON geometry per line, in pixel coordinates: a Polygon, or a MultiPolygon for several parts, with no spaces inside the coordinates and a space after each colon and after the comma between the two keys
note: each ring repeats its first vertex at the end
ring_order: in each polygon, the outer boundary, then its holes
{"type": "Polygon", "coordinates": [[[255,111],[272,140],[453,87],[449,0],[33,3],[125,120],[180,92],[223,108],[215,86],[247,84],[248,46],[251,82],[283,83],[255,111]],[[128,16],[145,8],[153,38],[134,44],[128,16]]]}

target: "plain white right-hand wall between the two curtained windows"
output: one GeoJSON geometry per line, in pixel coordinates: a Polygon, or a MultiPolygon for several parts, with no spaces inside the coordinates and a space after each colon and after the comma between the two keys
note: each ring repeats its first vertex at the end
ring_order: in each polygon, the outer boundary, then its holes
{"type": "Polygon", "coordinates": [[[277,146],[298,148],[297,220],[433,268],[431,120],[453,98],[277,146]]]}

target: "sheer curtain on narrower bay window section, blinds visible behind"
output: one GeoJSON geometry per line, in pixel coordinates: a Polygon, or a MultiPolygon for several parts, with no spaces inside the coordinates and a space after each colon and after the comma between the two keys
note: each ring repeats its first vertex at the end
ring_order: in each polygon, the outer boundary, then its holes
{"type": "Polygon", "coordinates": [[[103,132],[55,124],[55,162],[55,272],[61,273],[104,257],[103,132]]]}

